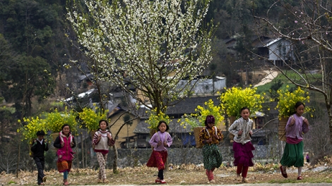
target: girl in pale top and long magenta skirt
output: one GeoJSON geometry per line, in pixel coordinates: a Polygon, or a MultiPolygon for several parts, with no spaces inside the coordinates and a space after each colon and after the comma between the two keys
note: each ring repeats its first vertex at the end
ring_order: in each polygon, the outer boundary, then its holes
{"type": "Polygon", "coordinates": [[[251,126],[253,121],[249,118],[250,110],[248,107],[242,107],[241,118],[235,120],[228,129],[234,137],[233,151],[234,151],[234,166],[237,166],[237,179],[240,180],[242,175],[242,182],[247,181],[247,173],[249,166],[254,166],[252,158],[254,154],[252,151],[255,149],[251,144],[252,130],[251,126]]]}

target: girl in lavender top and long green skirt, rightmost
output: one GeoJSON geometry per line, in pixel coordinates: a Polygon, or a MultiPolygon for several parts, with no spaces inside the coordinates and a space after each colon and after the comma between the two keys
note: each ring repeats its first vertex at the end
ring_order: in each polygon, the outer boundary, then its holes
{"type": "Polygon", "coordinates": [[[297,167],[297,180],[302,180],[301,172],[304,163],[303,156],[303,134],[309,131],[309,122],[304,118],[304,104],[297,101],[295,104],[295,114],[290,116],[286,125],[286,145],[281,158],[280,171],[284,178],[287,178],[287,166],[297,167]]]}

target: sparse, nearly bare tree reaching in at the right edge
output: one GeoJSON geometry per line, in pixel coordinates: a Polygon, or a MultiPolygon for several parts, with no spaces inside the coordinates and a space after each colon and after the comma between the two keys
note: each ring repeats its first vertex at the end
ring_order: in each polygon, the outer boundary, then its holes
{"type": "MultiPolygon", "coordinates": [[[[317,92],[324,99],[332,142],[332,2],[331,1],[275,1],[265,17],[254,16],[262,30],[292,42],[295,60],[283,61],[283,67],[273,66],[297,87],[317,92]],[[275,8],[280,14],[271,15],[275,8]],[[319,75],[316,75],[316,73],[319,75]],[[295,74],[295,75],[294,75],[295,74]]],[[[275,11],[274,11],[275,12],[275,11]]],[[[272,51],[273,54],[281,54],[272,51]]],[[[291,54],[292,55],[292,54],[291,54]]],[[[264,56],[259,56],[265,58],[264,56]]],[[[323,100],[322,99],[322,100],[323,100]]]]}

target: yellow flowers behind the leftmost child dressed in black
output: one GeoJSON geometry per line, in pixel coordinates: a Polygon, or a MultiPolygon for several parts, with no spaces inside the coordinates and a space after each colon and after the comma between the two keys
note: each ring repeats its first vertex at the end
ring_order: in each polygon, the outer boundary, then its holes
{"type": "Polygon", "coordinates": [[[22,132],[25,140],[30,140],[37,137],[38,130],[47,130],[47,120],[37,116],[36,118],[23,118],[23,120],[18,120],[18,123],[22,125],[18,128],[17,132],[22,132]],[[24,125],[24,123],[26,125],[24,125]]]}

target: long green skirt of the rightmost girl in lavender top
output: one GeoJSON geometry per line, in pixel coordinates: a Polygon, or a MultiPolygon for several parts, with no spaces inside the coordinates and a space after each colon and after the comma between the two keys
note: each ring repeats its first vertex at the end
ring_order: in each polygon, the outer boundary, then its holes
{"type": "Polygon", "coordinates": [[[304,164],[303,142],[298,144],[286,143],[283,151],[283,158],[281,158],[280,164],[287,167],[302,167],[304,164]]]}

